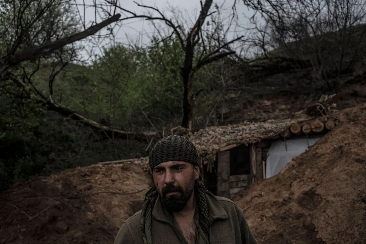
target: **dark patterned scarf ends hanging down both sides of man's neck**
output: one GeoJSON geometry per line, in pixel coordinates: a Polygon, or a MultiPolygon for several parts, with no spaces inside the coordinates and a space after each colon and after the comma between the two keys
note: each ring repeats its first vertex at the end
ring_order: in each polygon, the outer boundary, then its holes
{"type": "MultiPolygon", "coordinates": [[[[206,202],[206,188],[203,184],[203,176],[199,175],[199,179],[197,181],[197,185],[195,187],[197,191],[197,205],[194,214],[195,224],[197,228],[202,231],[204,235],[204,240],[206,244],[209,244],[209,211],[206,202]]],[[[145,194],[145,200],[142,204],[142,212],[141,212],[141,232],[143,237],[144,244],[152,244],[152,232],[151,232],[151,222],[152,222],[152,211],[157,199],[157,191],[156,187],[153,186],[148,192],[145,194]]]]}

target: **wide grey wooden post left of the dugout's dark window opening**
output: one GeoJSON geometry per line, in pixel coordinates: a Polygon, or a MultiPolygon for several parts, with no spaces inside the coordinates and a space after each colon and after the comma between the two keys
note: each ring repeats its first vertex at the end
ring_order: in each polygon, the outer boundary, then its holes
{"type": "Polygon", "coordinates": [[[230,151],[217,153],[217,196],[230,198],[230,151]]]}

